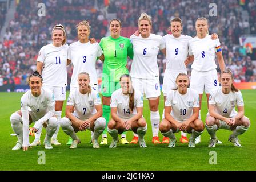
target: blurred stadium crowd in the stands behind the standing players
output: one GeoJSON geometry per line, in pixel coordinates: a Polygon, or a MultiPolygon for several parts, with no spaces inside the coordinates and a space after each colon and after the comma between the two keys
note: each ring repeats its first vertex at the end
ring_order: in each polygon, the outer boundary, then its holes
{"type": "MultiPolygon", "coordinates": [[[[217,17],[209,16],[210,0],[206,1],[143,1],[143,0],[45,0],[16,1],[14,19],[9,22],[0,42],[0,86],[27,84],[27,76],[35,71],[37,56],[42,46],[51,42],[51,29],[55,24],[65,26],[68,44],[77,41],[75,25],[81,20],[89,20],[90,37],[99,40],[106,36],[108,14],[116,13],[121,19],[122,36],[130,37],[129,30],[135,30],[139,15],[144,11],[153,17],[153,33],[161,36],[170,34],[170,19],[178,16],[182,19],[184,35],[195,36],[195,20],[201,16],[209,19],[209,32],[216,32],[222,44],[223,57],[227,68],[234,73],[235,82],[256,82],[256,67],[251,60],[249,49],[239,46],[239,36],[256,34],[256,2],[217,1],[217,17]],[[46,5],[46,16],[38,16],[37,5],[46,5]],[[249,15],[249,21],[243,19],[243,12],[249,15]]],[[[0,2],[0,30],[6,19],[6,6],[0,2]]],[[[165,70],[165,59],[158,55],[161,82],[165,70]]],[[[129,60],[129,67],[131,61],[129,60]]],[[[187,68],[190,74],[191,69],[187,68]]],[[[97,72],[100,77],[102,64],[98,61],[97,72]]],[[[70,82],[72,66],[68,67],[70,82]]]]}

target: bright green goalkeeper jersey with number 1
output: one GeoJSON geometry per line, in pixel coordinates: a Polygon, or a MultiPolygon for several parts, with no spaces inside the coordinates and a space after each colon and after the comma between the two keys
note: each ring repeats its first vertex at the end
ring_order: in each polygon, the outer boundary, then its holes
{"type": "Polygon", "coordinates": [[[133,45],[129,38],[119,36],[114,39],[111,36],[102,38],[99,43],[105,57],[103,64],[103,76],[106,81],[119,82],[119,78],[123,74],[129,73],[125,67],[127,64],[127,56],[133,59],[133,45]]]}

